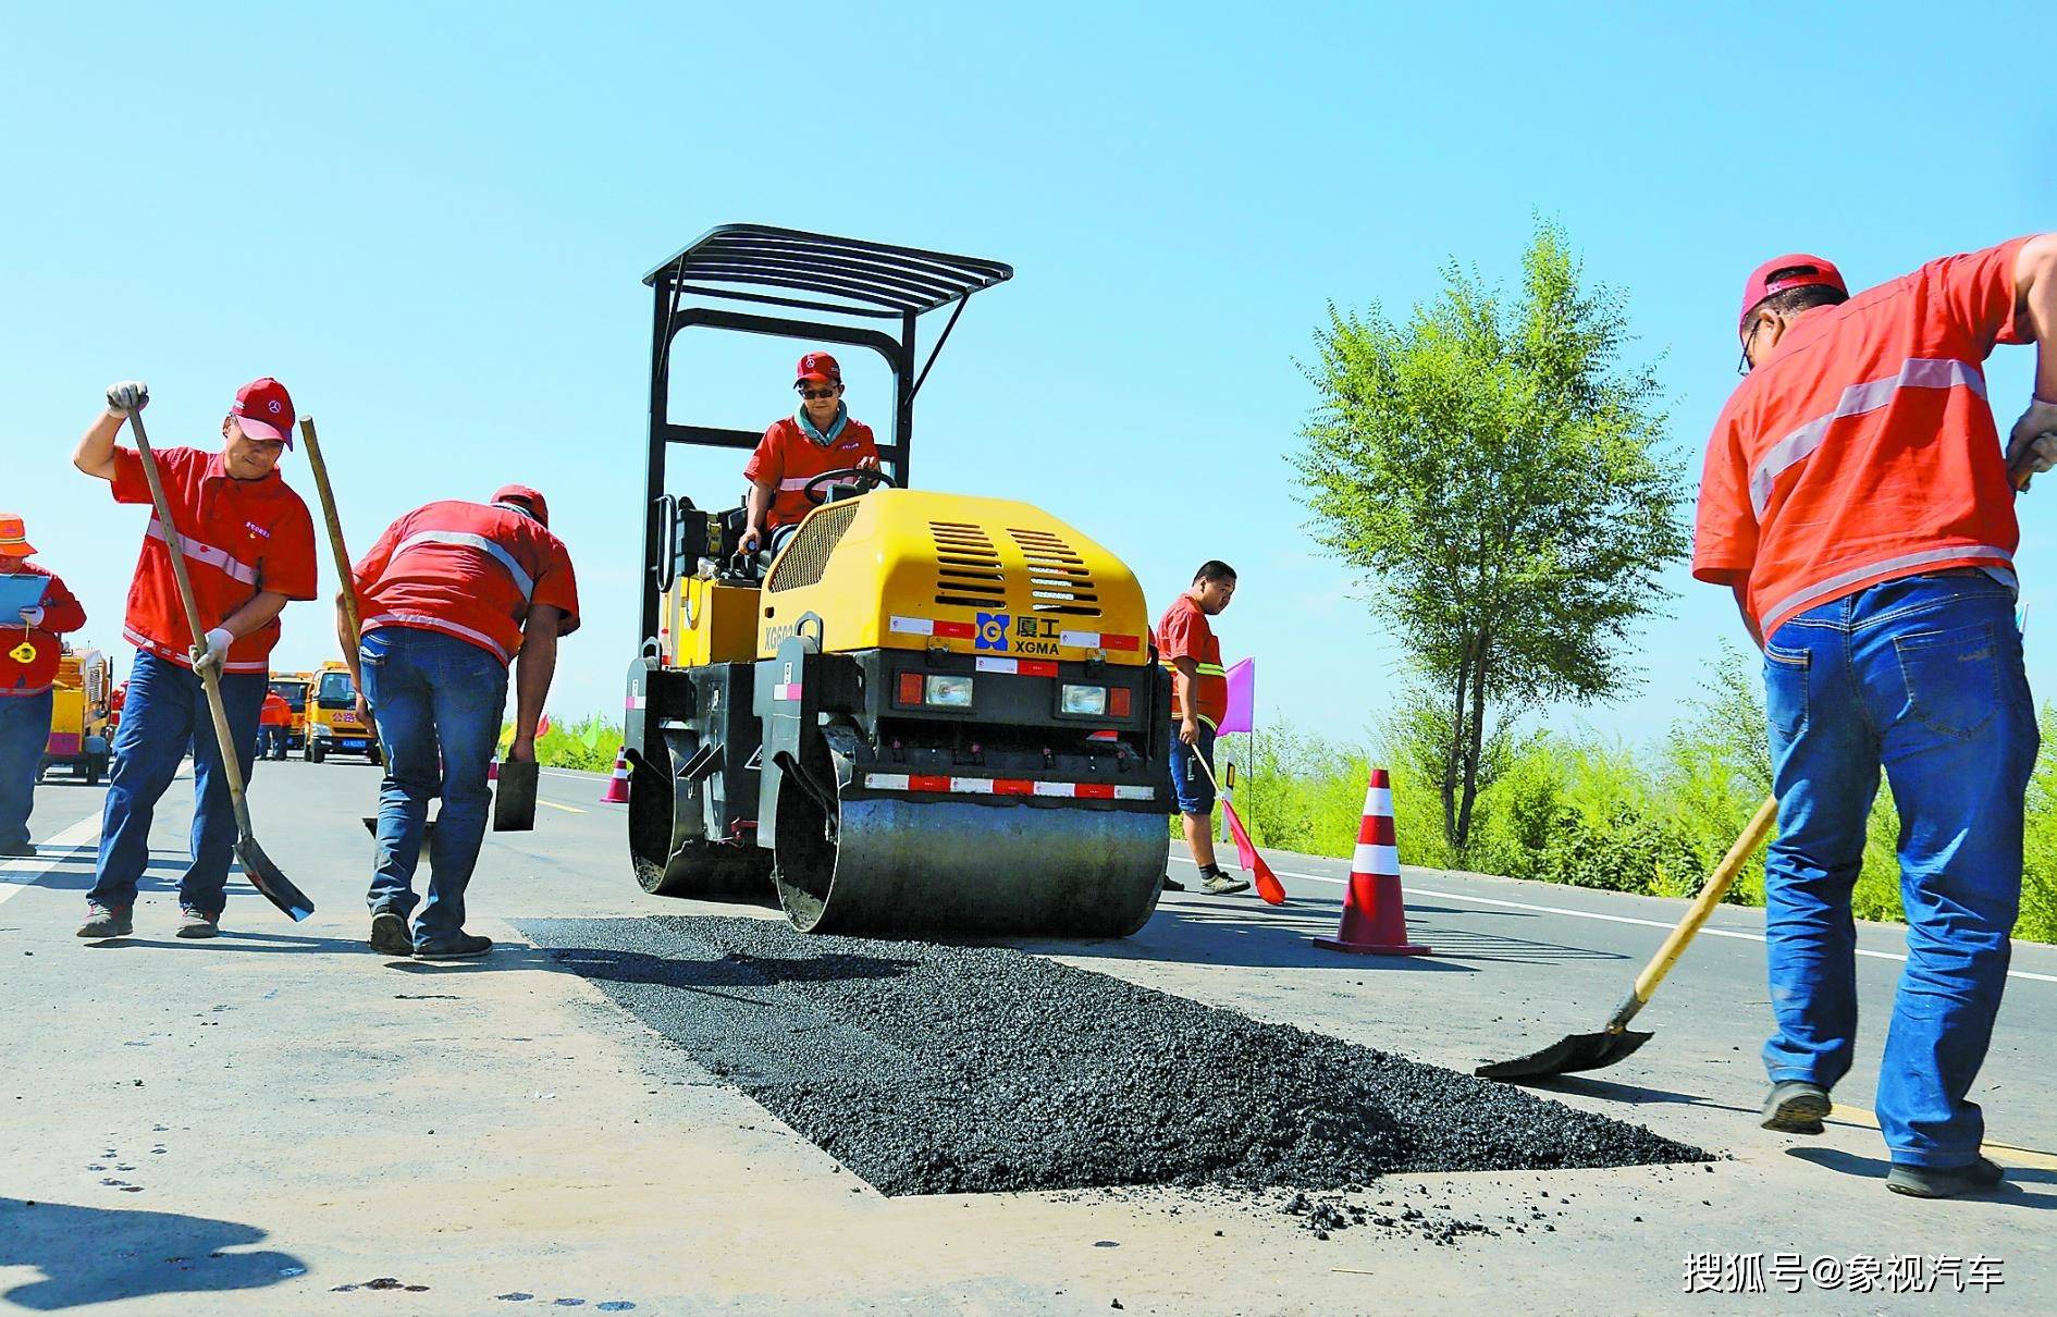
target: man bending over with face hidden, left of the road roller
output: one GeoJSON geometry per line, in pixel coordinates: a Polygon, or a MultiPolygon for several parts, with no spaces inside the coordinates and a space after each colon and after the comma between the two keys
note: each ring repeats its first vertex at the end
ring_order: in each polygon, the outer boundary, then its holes
{"type": "Polygon", "coordinates": [[[378,860],[368,903],[370,945],[385,955],[485,955],[492,938],[465,932],[465,887],[485,840],[485,774],[500,743],[514,675],[510,759],[533,761],[537,718],[557,671],[557,638],[578,630],[572,554],[549,533],[549,504],[529,486],[504,486],[490,504],[432,502],[387,527],[350,570],[362,638],[335,609],[358,716],[385,745],[378,860]],[[428,901],[413,912],[428,803],[442,796],[428,844],[428,901]]]}

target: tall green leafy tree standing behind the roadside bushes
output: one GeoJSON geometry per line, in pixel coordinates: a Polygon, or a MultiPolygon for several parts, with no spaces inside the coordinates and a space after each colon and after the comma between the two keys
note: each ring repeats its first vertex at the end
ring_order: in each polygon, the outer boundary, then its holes
{"type": "Polygon", "coordinates": [[[1329,307],[1296,455],[1310,531],[1360,572],[1446,710],[1444,835],[1463,856],[1487,722],[1617,698],[1623,648],[1685,554],[1685,469],[1658,451],[1650,366],[1623,362],[1625,294],[1584,286],[1539,222],[1512,300],[1444,268],[1395,323],[1329,307]]]}

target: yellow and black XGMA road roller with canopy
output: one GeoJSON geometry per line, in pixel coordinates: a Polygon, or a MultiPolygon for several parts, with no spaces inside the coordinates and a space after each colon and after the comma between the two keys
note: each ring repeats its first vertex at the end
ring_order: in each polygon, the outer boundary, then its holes
{"type": "Polygon", "coordinates": [[[1135,574],[1026,502],[909,488],[915,393],[969,298],[1008,278],[757,224],[714,228],[646,276],[646,572],[625,696],[646,891],[775,899],[802,932],[868,936],[1127,936],[1156,907],[1170,683],[1135,574]],[[942,309],[922,362],[917,323],[942,309]],[[743,551],[741,498],[666,490],[675,444],[759,438],[673,420],[687,329],[872,350],[893,372],[880,465],[810,482],[778,551],[743,551]]]}

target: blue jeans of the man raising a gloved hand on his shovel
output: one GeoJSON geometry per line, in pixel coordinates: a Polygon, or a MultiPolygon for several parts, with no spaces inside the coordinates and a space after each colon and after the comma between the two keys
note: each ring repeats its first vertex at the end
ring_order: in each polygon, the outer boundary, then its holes
{"type": "MultiPolygon", "coordinates": [[[[230,743],[245,782],[251,778],[257,710],[267,685],[265,673],[222,677],[222,708],[228,712],[230,743]]],[[[193,751],[193,862],[179,879],[179,905],[220,918],[228,858],[237,850],[237,815],[228,800],[228,776],[222,772],[208,693],[191,669],[144,650],[136,652],[121,726],[115,728],[113,770],[101,811],[99,873],[86,893],[88,901],[113,910],[136,903],[136,883],[150,862],[150,817],[158,796],[179,774],[187,747],[193,751]]]]}

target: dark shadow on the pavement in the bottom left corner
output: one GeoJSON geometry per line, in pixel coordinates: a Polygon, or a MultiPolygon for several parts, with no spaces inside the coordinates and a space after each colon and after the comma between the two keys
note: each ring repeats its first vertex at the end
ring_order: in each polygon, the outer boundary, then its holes
{"type": "Polygon", "coordinates": [[[230,1253],[267,1237],[234,1220],[0,1198],[0,1268],[35,1268],[0,1298],[31,1313],[152,1294],[257,1290],[306,1272],[292,1253],[230,1253]]]}

